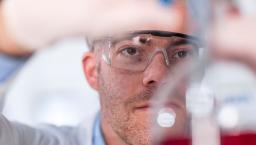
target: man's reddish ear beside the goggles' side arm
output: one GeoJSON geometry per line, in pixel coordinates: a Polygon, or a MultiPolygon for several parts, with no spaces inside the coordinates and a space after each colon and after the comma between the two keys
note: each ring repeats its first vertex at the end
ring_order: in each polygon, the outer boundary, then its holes
{"type": "Polygon", "coordinates": [[[98,71],[96,55],[93,52],[87,52],[83,57],[83,68],[85,77],[89,85],[98,90],[98,71]]]}

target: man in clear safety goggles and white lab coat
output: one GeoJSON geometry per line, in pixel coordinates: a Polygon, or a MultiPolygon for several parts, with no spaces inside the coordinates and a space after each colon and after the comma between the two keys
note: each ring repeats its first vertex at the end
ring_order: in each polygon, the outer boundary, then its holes
{"type": "MultiPolygon", "coordinates": [[[[184,3],[177,6],[182,14],[184,3]]],[[[194,37],[183,34],[185,15],[180,25],[145,25],[124,33],[90,39],[91,51],[83,66],[89,84],[99,92],[99,115],[78,128],[39,127],[33,129],[12,123],[1,116],[1,144],[13,145],[150,145],[154,117],[151,101],[167,74],[197,53],[194,37]]],[[[179,21],[178,21],[179,22],[179,21]]],[[[175,76],[173,76],[175,77],[175,76]]],[[[176,121],[173,135],[186,133],[185,87],[177,87],[165,107],[173,110],[176,121]]]]}

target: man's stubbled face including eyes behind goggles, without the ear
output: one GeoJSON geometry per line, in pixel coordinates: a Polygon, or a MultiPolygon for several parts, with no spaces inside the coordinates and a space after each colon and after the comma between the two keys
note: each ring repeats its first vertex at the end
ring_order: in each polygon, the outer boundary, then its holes
{"type": "MultiPolygon", "coordinates": [[[[106,55],[110,57],[111,64],[101,59],[98,65],[98,91],[103,121],[127,144],[150,145],[153,143],[151,129],[157,118],[152,101],[163,97],[154,93],[166,85],[167,74],[176,78],[179,62],[186,61],[194,47],[176,36],[162,38],[140,35],[136,38],[138,36],[118,40],[111,46],[106,55]],[[166,51],[166,57],[162,50],[166,51]],[[148,57],[145,58],[145,55],[148,57]]],[[[168,129],[169,135],[179,136],[186,131],[186,81],[183,79],[176,85],[175,91],[168,92],[168,99],[162,105],[176,114],[174,126],[168,129]]]]}

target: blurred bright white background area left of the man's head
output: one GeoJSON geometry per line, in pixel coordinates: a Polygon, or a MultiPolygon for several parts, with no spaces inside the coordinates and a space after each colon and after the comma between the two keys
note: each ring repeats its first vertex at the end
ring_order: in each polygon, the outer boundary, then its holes
{"type": "Polygon", "coordinates": [[[84,39],[65,40],[35,54],[10,88],[4,114],[26,124],[76,125],[98,111],[98,96],[87,84],[84,39]]]}

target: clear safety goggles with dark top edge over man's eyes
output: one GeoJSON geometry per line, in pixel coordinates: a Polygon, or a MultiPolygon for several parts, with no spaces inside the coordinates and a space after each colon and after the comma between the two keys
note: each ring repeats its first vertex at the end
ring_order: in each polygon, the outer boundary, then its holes
{"type": "Polygon", "coordinates": [[[107,38],[102,58],[111,67],[128,71],[144,71],[153,58],[162,54],[166,67],[197,59],[196,37],[167,31],[135,31],[107,38]]]}

